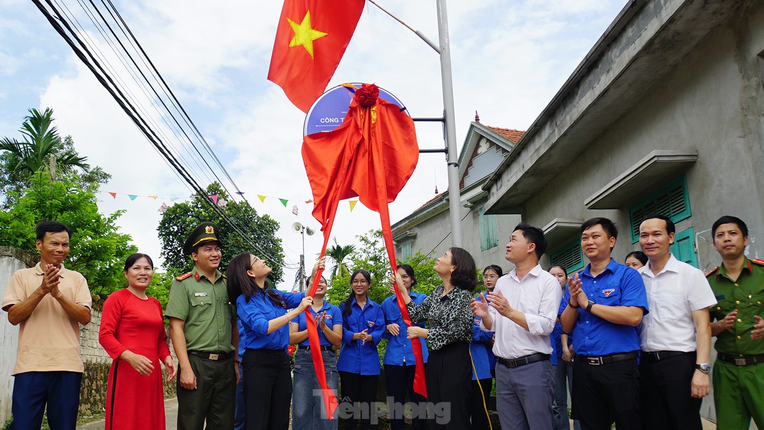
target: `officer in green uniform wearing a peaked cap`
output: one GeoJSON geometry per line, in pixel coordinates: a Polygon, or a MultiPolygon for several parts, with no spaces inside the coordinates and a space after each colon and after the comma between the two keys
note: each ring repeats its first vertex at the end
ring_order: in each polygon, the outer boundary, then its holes
{"type": "Polygon", "coordinates": [[[175,278],[164,312],[178,357],[178,430],[232,430],[238,383],[238,327],[219,272],[218,226],[202,222],[183,252],[194,269],[175,278]]]}

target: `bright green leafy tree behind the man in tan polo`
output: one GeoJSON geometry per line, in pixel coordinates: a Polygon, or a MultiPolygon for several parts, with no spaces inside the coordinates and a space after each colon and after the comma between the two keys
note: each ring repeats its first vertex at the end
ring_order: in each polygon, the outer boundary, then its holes
{"type": "Polygon", "coordinates": [[[102,215],[91,190],[66,180],[51,182],[42,172],[31,179],[41,185],[23,195],[11,192],[14,205],[0,212],[0,244],[36,253],[37,222],[61,221],[72,229],[71,251],[64,264],[85,276],[93,298],[105,298],[125,286],[122,268],[137,248],[128,234],[118,231],[116,221],[124,211],[102,215]]]}

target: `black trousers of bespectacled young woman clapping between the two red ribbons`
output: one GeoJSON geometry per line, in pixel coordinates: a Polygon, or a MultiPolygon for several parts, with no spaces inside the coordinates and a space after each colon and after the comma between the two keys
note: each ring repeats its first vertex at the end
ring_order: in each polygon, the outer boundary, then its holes
{"type": "Polygon", "coordinates": [[[354,407],[352,416],[346,418],[345,408],[340,411],[345,430],[358,428],[358,419],[361,419],[361,430],[375,428],[371,425],[371,417],[377,413],[377,383],[379,375],[361,375],[358,373],[339,372],[339,390],[342,402],[358,403],[354,407]]]}

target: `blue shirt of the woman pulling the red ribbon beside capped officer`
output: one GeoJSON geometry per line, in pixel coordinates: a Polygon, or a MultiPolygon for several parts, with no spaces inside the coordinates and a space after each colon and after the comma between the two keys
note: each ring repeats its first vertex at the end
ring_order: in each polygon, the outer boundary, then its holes
{"type": "Polygon", "coordinates": [[[289,325],[284,325],[268,335],[268,322],[286,314],[286,309],[299,306],[305,293],[279,292],[286,308],[277,306],[268,299],[265,293],[254,293],[249,302],[244,295],[236,299],[236,312],[244,327],[246,347],[251,349],[284,350],[289,346],[289,325]]]}

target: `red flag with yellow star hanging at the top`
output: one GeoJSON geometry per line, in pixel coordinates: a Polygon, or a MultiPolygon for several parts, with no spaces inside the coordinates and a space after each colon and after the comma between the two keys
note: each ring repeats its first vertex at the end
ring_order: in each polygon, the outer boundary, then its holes
{"type": "Polygon", "coordinates": [[[284,1],[268,80],[303,112],[329,85],[362,11],[364,0],[284,1]]]}

